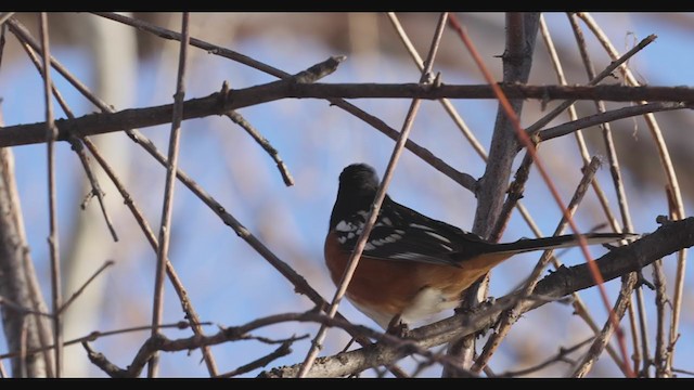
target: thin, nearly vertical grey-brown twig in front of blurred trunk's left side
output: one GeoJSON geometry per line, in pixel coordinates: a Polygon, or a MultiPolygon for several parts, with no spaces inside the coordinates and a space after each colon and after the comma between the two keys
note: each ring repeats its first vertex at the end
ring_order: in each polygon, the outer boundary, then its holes
{"type": "Polygon", "coordinates": [[[63,330],[61,316],[57,314],[63,299],[61,296],[61,260],[57,238],[57,205],[55,194],[55,139],[57,129],[53,122],[53,104],[51,99],[51,72],[49,60],[48,16],[41,12],[39,21],[41,36],[41,53],[43,54],[43,98],[46,103],[46,141],[48,145],[48,188],[49,188],[49,226],[48,246],[51,257],[51,301],[53,316],[53,340],[55,340],[55,377],[60,378],[63,370],[63,330]]]}

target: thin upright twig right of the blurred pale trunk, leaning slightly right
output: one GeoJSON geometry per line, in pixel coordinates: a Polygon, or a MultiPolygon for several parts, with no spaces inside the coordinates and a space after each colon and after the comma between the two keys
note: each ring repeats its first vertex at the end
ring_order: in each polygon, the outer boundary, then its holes
{"type": "MultiPolygon", "coordinates": [[[[159,226],[159,246],[156,253],[156,273],[154,282],[154,299],[152,302],[152,337],[158,334],[157,326],[164,316],[164,278],[166,275],[166,260],[168,258],[171,214],[174,204],[174,188],[176,184],[176,171],[178,170],[179,140],[181,135],[181,121],[183,120],[183,99],[185,98],[185,64],[188,62],[188,43],[190,14],[183,12],[181,16],[181,39],[178,58],[178,75],[176,77],[176,93],[174,94],[174,117],[171,119],[171,134],[169,135],[168,164],[166,165],[166,183],[164,186],[164,203],[162,206],[162,224],[159,226]]],[[[147,377],[156,377],[158,369],[158,355],[152,355],[147,365],[147,377]]]]}

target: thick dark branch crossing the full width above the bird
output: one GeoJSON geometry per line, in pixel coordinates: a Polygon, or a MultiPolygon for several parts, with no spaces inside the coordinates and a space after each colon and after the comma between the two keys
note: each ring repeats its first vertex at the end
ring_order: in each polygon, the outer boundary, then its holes
{"type": "MultiPolygon", "coordinates": [[[[342,58],[331,58],[335,66],[342,58]]],[[[216,92],[205,98],[191,99],[183,103],[183,119],[224,115],[230,109],[273,102],[287,98],[311,99],[496,99],[491,87],[436,86],[436,84],[387,84],[387,83],[306,83],[303,77],[245,89],[216,92]]],[[[525,86],[501,84],[509,99],[551,100],[604,100],[631,102],[694,102],[694,88],[690,87],[625,87],[609,86],[525,86]]],[[[76,119],[57,119],[59,141],[68,134],[76,136],[103,134],[126,129],[144,128],[168,123],[172,117],[172,104],[124,109],[113,114],[90,114],[76,119]]],[[[46,123],[16,125],[0,128],[0,147],[17,146],[46,141],[46,123]]]]}

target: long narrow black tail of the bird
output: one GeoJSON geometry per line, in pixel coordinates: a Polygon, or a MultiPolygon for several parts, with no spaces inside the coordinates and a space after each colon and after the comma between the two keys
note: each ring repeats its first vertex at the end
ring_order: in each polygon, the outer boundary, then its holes
{"type": "MultiPolygon", "coordinates": [[[[620,239],[635,238],[637,234],[631,233],[587,233],[583,234],[588,245],[615,243],[620,239]]],[[[498,253],[522,253],[532,250],[547,250],[557,248],[570,248],[579,246],[578,235],[566,234],[542,238],[520,238],[513,243],[504,243],[496,246],[498,253]]]]}

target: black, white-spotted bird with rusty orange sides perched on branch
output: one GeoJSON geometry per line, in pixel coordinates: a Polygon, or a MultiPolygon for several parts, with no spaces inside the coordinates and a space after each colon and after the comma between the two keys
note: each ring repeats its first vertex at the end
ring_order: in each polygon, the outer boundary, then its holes
{"type": "MultiPolygon", "coordinates": [[[[335,284],[361,235],[378,184],[376,172],[365,164],[350,165],[339,176],[324,248],[335,284]]],[[[589,244],[604,244],[625,235],[591,233],[584,237],[589,244]]],[[[577,245],[576,235],[490,243],[386,195],[347,288],[347,298],[387,329],[397,325],[393,323],[396,320],[408,324],[458,307],[466,288],[516,253],[577,245]]]]}

